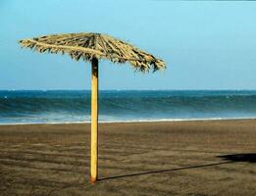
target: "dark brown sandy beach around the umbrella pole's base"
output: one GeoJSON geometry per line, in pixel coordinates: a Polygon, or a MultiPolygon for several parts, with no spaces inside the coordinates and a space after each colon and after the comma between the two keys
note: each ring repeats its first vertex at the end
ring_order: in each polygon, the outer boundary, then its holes
{"type": "Polygon", "coordinates": [[[256,195],[256,121],[0,126],[0,195],[256,195]]]}

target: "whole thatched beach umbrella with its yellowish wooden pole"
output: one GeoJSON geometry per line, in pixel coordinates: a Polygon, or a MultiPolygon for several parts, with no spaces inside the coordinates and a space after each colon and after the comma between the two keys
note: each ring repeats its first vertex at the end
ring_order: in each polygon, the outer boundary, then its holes
{"type": "Polygon", "coordinates": [[[20,41],[23,47],[40,53],[68,54],[91,63],[91,181],[98,175],[98,60],[128,62],[135,70],[153,72],[165,69],[165,63],[132,45],[100,33],[53,34],[20,41]]]}

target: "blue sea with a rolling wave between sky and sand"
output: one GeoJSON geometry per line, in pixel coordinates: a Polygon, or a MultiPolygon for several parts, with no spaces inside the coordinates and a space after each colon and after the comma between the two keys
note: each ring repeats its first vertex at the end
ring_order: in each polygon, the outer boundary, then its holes
{"type": "MultiPolygon", "coordinates": [[[[256,91],[100,91],[100,122],[256,118],[256,91]]],[[[0,123],[90,121],[90,91],[0,91],[0,123]]]]}

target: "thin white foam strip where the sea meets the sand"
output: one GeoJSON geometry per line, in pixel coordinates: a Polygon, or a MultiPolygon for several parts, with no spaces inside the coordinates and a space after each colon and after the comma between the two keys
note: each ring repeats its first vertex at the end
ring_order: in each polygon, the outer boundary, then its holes
{"type": "MultiPolygon", "coordinates": [[[[175,122],[218,122],[218,121],[253,121],[255,118],[212,118],[212,119],[163,119],[163,120],[141,120],[141,121],[113,121],[99,123],[175,123],[175,122]]],[[[32,124],[89,124],[90,122],[49,122],[49,123],[0,123],[1,125],[32,125],[32,124]]]]}

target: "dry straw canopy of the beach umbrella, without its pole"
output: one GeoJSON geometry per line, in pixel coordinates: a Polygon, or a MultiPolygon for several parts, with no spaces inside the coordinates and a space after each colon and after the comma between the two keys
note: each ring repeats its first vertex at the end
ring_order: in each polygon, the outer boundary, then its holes
{"type": "Polygon", "coordinates": [[[165,63],[134,46],[101,33],[67,33],[41,36],[20,41],[23,47],[40,53],[68,54],[73,59],[92,61],[108,59],[114,63],[128,62],[135,70],[153,72],[165,69],[165,63]]]}

